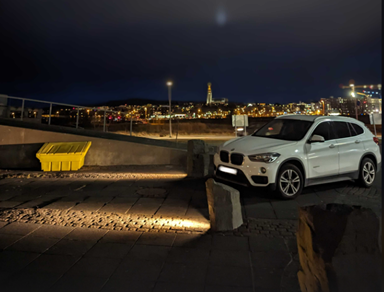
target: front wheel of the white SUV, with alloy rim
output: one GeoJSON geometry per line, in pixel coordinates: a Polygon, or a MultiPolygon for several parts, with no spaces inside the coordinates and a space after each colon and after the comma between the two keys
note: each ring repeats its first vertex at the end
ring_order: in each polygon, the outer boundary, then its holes
{"type": "Polygon", "coordinates": [[[277,175],[276,192],[279,198],[292,200],[303,190],[304,177],[300,169],[293,164],[284,164],[277,175]]]}

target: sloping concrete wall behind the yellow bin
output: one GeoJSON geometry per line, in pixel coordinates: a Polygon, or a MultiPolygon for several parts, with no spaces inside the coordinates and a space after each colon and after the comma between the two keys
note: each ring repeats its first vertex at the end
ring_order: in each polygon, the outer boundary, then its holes
{"type": "MultiPolygon", "coordinates": [[[[149,139],[145,139],[149,140],[149,139]]],[[[85,165],[182,165],[186,149],[145,143],[57,133],[0,124],[0,168],[36,168],[36,149],[45,142],[92,141],[85,165]]],[[[157,143],[154,142],[154,143],[157,143]]]]}

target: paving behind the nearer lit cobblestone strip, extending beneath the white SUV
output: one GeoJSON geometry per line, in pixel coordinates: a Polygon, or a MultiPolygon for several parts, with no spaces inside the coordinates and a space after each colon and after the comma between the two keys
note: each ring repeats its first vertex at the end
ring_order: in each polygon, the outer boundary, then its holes
{"type": "MultiPolygon", "coordinates": [[[[182,173],[87,172],[65,178],[26,178],[36,173],[18,176],[0,180],[0,209],[117,212],[208,222],[205,181],[185,178],[182,173]]],[[[360,188],[353,182],[327,184],[306,188],[293,201],[275,199],[273,193],[263,189],[234,187],[241,192],[245,218],[296,220],[299,206],[321,203],[355,204],[381,213],[381,176],[370,189],[360,188]]]]}

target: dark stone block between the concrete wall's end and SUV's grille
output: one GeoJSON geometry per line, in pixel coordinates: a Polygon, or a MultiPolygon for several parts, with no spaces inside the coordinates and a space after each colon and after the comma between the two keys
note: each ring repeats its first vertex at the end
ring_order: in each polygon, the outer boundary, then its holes
{"type": "Polygon", "coordinates": [[[211,158],[208,145],[203,140],[189,140],[187,174],[189,177],[205,177],[209,174],[211,158]]]}

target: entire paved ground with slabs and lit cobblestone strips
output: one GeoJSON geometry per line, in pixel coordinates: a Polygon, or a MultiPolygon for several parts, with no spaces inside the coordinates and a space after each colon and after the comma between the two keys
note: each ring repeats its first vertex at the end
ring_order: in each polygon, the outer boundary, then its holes
{"type": "Polygon", "coordinates": [[[299,206],[348,203],[381,214],[381,180],[371,189],[312,187],[295,201],[240,188],[244,225],[213,234],[204,180],[181,170],[2,175],[2,291],[298,292],[299,206]]]}

